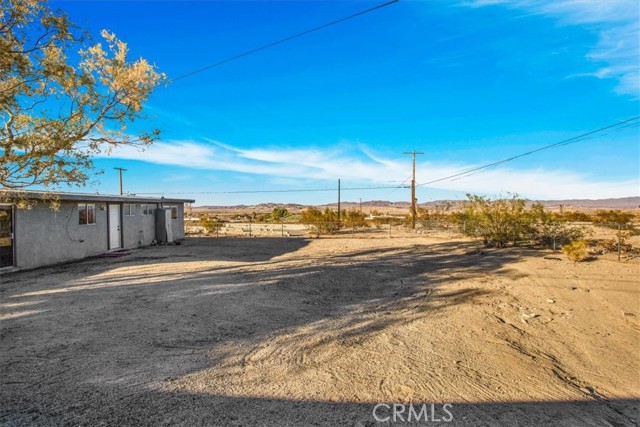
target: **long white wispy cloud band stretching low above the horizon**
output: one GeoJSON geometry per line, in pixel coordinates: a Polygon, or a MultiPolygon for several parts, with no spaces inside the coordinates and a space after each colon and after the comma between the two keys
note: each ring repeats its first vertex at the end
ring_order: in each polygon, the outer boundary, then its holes
{"type": "MultiPolygon", "coordinates": [[[[342,148],[300,150],[280,148],[244,149],[217,141],[157,142],[146,150],[122,146],[110,157],[207,171],[264,175],[281,182],[287,179],[335,180],[392,185],[407,178],[407,159],[387,159],[363,145],[357,151],[342,148]]],[[[474,164],[419,162],[416,180],[428,182],[473,168],[474,164]]],[[[274,182],[273,179],[271,182],[274,182]]],[[[639,179],[607,181],[573,172],[545,169],[489,169],[472,178],[445,180],[430,187],[450,191],[497,194],[512,192],[530,198],[609,198],[639,193],[639,179]]],[[[425,187],[426,188],[426,187],[425,187]]]]}

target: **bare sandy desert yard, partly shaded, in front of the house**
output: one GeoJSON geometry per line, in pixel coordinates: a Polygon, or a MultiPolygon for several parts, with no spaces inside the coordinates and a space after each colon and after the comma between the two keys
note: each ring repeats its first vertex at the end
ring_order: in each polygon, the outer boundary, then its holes
{"type": "Polygon", "coordinates": [[[633,426],[639,278],[432,235],[189,238],[4,274],[0,425],[633,426]]]}

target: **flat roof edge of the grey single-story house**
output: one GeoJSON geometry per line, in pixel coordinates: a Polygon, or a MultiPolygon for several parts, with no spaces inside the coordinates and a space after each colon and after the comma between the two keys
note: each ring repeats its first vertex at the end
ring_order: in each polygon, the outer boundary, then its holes
{"type": "Polygon", "coordinates": [[[137,196],[135,194],[100,194],[100,193],[71,193],[64,191],[36,191],[36,190],[3,190],[0,198],[27,198],[46,200],[54,198],[62,201],[77,202],[124,202],[124,203],[195,203],[191,199],[176,199],[171,197],[137,196]]]}

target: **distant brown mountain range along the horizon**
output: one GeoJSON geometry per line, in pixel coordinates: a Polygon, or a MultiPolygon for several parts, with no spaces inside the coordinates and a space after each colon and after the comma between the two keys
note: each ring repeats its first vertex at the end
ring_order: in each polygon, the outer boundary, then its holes
{"type": "MultiPolygon", "coordinates": [[[[549,209],[637,209],[640,208],[640,197],[623,197],[619,199],[567,199],[567,200],[539,200],[549,209]]],[[[452,208],[459,207],[463,201],[460,200],[436,200],[433,202],[419,203],[419,207],[433,208],[436,205],[442,206],[450,203],[452,208]]],[[[194,206],[195,209],[204,210],[251,210],[256,212],[270,212],[275,208],[285,208],[289,211],[298,211],[311,205],[300,205],[296,203],[260,203],[257,205],[236,205],[236,206],[194,206]]],[[[330,207],[335,209],[337,203],[327,205],[313,205],[317,207],[330,207]]],[[[342,209],[358,209],[360,206],[371,210],[374,208],[408,209],[409,202],[391,202],[388,200],[369,200],[360,202],[342,202],[342,209]]]]}

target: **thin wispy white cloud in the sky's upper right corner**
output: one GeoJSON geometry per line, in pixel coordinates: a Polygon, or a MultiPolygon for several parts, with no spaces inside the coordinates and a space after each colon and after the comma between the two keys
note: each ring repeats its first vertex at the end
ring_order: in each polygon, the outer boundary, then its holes
{"type": "Polygon", "coordinates": [[[501,5],[548,16],[562,25],[581,25],[598,35],[587,58],[595,71],[576,76],[616,79],[615,92],[640,98],[640,2],[638,0],[474,0],[465,6],[501,5]]]}

